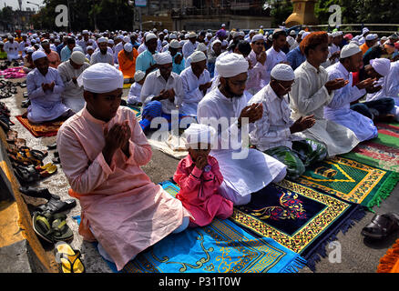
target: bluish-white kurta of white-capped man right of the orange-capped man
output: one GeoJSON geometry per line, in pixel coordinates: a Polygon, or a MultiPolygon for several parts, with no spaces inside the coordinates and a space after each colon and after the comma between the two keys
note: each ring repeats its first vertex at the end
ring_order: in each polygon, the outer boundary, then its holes
{"type": "Polygon", "coordinates": [[[341,62],[329,66],[327,73],[329,80],[343,78],[349,83],[333,92],[333,100],[324,107],[324,117],[351,129],[361,142],[377,137],[378,130],[373,120],[351,109],[351,102],[365,95],[365,89],[353,86],[352,73],[341,62]]]}

